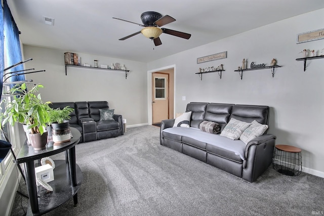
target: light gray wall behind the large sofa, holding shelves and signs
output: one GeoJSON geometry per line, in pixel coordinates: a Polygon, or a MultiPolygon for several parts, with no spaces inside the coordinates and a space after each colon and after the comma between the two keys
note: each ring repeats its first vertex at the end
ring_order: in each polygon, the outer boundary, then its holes
{"type": "Polygon", "coordinates": [[[184,112],[193,101],[270,106],[268,133],[277,136],[276,144],[301,148],[303,171],[324,177],[324,59],[308,61],[306,72],[303,62],[295,60],[303,49],[324,49],[323,39],[296,44],[298,33],[323,28],[323,14],[321,9],[215,41],[150,62],[148,70],[176,65],[175,112],[184,112]],[[226,59],[196,64],[198,57],[223,51],[226,59]],[[263,69],[246,71],[241,80],[234,70],[244,58],[248,68],[252,61],[269,65],[273,58],[282,67],[275,69],[274,78],[270,69],[263,69]],[[195,74],[199,67],[220,64],[226,70],[222,79],[209,73],[200,81],[195,74]]]}

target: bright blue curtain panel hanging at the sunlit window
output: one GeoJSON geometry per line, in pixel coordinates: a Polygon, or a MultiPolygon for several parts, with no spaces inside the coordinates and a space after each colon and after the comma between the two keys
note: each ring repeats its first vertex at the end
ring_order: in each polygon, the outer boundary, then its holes
{"type": "MultiPolygon", "coordinates": [[[[19,41],[19,30],[16,25],[14,18],[12,17],[11,11],[8,7],[7,1],[4,1],[4,35],[5,35],[5,44],[6,44],[6,61],[7,67],[17,64],[22,61],[20,41],[19,41]]],[[[23,64],[20,64],[16,67],[9,69],[6,72],[14,72],[23,70],[23,64]]],[[[20,72],[22,73],[22,72],[20,72]]],[[[14,75],[16,73],[10,74],[14,75]]],[[[7,77],[7,76],[6,76],[7,77]]],[[[25,75],[12,76],[9,78],[9,81],[21,81],[25,80],[25,75]]]]}

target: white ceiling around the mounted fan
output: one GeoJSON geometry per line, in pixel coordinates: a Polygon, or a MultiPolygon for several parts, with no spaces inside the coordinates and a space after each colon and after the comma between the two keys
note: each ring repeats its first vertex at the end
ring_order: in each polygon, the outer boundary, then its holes
{"type": "MultiPolygon", "coordinates": [[[[323,0],[8,0],[25,45],[150,62],[279,20],[324,8],[323,0]],[[163,27],[161,46],[142,34],[140,15],[155,11],[175,22],[163,27]],[[43,16],[54,18],[46,25],[43,16]],[[154,48],[154,50],[153,50],[154,48]]],[[[298,23],[296,23],[298,25],[298,23]]],[[[309,29],[313,30],[313,29],[309,29]]]]}

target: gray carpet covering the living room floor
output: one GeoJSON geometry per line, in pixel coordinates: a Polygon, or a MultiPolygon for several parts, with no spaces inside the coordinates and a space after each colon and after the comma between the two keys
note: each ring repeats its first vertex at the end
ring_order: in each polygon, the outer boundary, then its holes
{"type": "MultiPolygon", "coordinates": [[[[64,153],[52,159],[64,159],[64,153]]],[[[324,179],[281,175],[270,166],[254,183],[159,145],[159,127],[76,146],[84,181],[78,205],[46,215],[310,215],[324,210],[324,179]]],[[[22,184],[22,190],[25,190],[22,184]]],[[[17,194],[12,215],[22,215],[17,194]]]]}

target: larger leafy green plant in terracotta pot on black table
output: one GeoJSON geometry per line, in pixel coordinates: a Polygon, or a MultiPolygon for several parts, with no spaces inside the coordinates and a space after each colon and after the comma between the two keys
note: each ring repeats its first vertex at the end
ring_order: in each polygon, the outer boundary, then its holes
{"type": "Polygon", "coordinates": [[[43,102],[41,95],[36,94],[39,89],[44,88],[36,84],[27,90],[26,84],[16,84],[7,94],[14,95],[12,100],[3,100],[5,112],[1,116],[1,124],[9,122],[14,125],[16,122],[26,124],[30,129],[30,142],[35,150],[44,149],[47,144],[46,126],[50,123],[47,110],[49,103],[43,102]]]}

